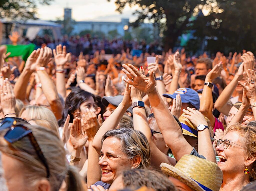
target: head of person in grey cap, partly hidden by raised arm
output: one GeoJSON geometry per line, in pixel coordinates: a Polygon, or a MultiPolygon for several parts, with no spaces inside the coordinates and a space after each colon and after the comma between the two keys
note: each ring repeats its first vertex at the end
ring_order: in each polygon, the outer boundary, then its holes
{"type": "MultiPolygon", "coordinates": [[[[102,104],[106,106],[106,111],[103,113],[103,119],[106,120],[111,113],[121,104],[123,100],[123,95],[117,95],[117,96],[104,96],[102,98],[102,104]]],[[[126,114],[129,116],[132,116],[132,108],[129,107],[126,111],[126,114]]]]}

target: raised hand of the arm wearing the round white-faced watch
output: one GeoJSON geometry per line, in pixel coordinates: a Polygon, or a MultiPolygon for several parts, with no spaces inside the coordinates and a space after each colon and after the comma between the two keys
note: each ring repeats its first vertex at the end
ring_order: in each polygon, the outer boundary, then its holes
{"type": "Polygon", "coordinates": [[[185,113],[184,117],[188,118],[195,126],[200,124],[208,125],[204,115],[200,111],[187,107],[187,110],[183,109],[183,112],[185,113]]]}

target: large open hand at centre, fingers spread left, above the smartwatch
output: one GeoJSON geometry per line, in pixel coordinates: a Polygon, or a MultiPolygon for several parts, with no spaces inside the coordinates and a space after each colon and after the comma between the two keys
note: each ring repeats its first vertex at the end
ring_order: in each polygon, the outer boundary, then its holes
{"type": "Polygon", "coordinates": [[[127,75],[130,80],[123,79],[126,83],[133,85],[138,90],[149,94],[155,90],[156,80],[154,77],[154,71],[150,71],[150,78],[147,78],[140,71],[138,71],[133,65],[128,66],[123,64],[124,69],[122,71],[127,75]]]}

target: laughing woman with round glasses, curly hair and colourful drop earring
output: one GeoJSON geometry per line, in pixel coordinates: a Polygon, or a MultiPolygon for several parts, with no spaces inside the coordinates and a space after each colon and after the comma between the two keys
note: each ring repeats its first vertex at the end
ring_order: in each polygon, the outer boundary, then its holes
{"type": "Polygon", "coordinates": [[[231,125],[222,139],[216,147],[220,158],[218,166],[223,171],[222,190],[241,190],[256,180],[256,129],[231,125]]]}

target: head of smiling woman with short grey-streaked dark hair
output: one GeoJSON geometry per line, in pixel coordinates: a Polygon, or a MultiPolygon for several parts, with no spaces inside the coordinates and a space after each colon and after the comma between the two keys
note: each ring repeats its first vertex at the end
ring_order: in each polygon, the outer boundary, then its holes
{"type": "Polygon", "coordinates": [[[99,165],[101,181],[108,183],[104,188],[109,188],[124,170],[147,168],[150,165],[150,148],[145,135],[127,128],[106,132],[102,137],[99,165]]]}

